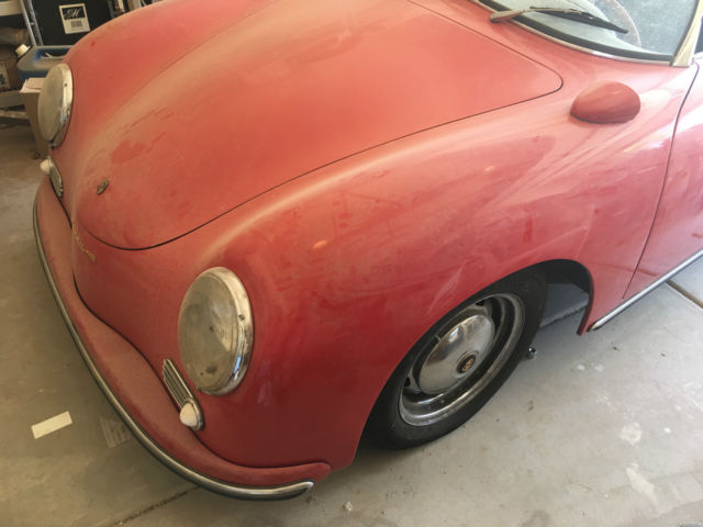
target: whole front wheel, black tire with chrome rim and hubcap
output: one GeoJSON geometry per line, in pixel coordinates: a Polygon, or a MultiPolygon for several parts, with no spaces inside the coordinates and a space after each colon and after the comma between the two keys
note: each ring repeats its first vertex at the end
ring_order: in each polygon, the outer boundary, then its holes
{"type": "Polygon", "coordinates": [[[409,448],[437,439],[468,421],[525,356],[539,328],[546,290],[544,274],[526,269],[448,313],[390,377],[369,416],[367,435],[387,448],[409,448]],[[492,334],[487,333],[490,327],[492,334]],[[477,343],[483,347],[471,350],[477,343]],[[457,384],[443,392],[447,382],[457,384]]]}

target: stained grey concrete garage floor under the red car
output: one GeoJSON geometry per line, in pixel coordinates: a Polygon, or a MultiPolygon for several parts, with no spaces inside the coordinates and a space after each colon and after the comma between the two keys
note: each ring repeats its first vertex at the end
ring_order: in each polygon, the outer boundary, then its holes
{"type": "Polygon", "coordinates": [[[595,334],[576,335],[578,315],[543,329],[536,359],[450,436],[402,452],[365,444],[299,498],[239,502],[152,459],[83,367],[36,257],[32,155],[29,128],[0,130],[0,525],[703,522],[703,264],[595,334]],[[70,426],[34,439],[32,425],[66,411],[70,426]]]}

